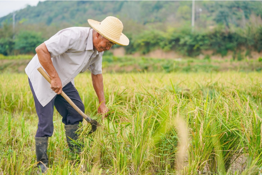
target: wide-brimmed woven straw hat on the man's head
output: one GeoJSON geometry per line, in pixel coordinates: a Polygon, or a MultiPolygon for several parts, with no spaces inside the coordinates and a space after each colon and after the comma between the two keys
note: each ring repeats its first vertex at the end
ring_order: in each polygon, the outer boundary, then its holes
{"type": "Polygon", "coordinates": [[[129,44],[129,39],[122,33],[123,24],[118,18],[108,16],[102,22],[90,19],[87,21],[93,29],[113,43],[122,46],[127,46],[129,44]]]}

